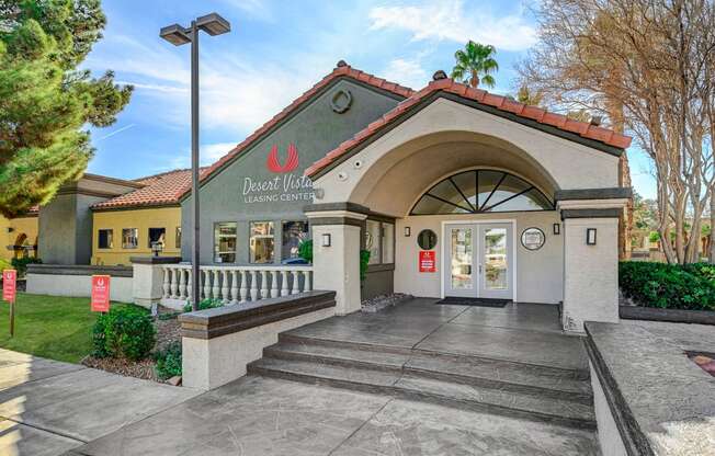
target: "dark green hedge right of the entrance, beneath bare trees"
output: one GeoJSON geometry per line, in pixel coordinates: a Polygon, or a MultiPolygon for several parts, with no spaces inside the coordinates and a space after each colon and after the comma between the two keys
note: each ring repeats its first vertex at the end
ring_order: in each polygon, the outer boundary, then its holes
{"type": "Polygon", "coordinates": [[[618,265],[623,294],[644,307],[715,310],[715,265],[624,261],[618,265]]]}

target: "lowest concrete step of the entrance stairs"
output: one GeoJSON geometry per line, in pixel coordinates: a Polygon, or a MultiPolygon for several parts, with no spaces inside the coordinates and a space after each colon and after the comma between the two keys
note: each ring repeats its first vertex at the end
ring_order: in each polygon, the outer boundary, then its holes
{"type": "Polygon", "coordinates": [[[390,395],[479,412],[540,420],[578,429],[595,429],[590,404],[531,394],[463,384],[456,378],[427,378],[390,368],[345,366],[318,360],[264,357],[248,366],[250,374],[326,385],[371,394],[390,395]]]}

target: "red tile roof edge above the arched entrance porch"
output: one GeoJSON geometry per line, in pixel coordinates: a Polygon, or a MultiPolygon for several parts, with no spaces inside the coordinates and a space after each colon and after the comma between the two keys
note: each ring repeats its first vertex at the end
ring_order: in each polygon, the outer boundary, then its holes
{"type": "MultiPolygon", "coordinates": [[[[315,178],[327,172],[332,166],[338,164],[342,159],[351,155],[351,152],[359,150],[361,146],[389,132],[390,127],[400,119],[422,110],[435,96],[446,96],[455,101],[469,102],[473,107],[483,109],[491,114],[537,127],[547,133],[557,134],[566,139],[581,139],[588,146],[609,151],[610,153],[613,150],[620,150],[622,152],[622,149],[627,148],[632,140],[628,136],[618,134],[612,129],[602,128],[588,122],[574,121],[561,114],[549,113],[542,107],[519,103],[507,96],[496,95],[485,90],[475,89],[444,78],[430,82],[424,89],[410,95],[394,110],[355,134],[351,139],[348,139],[336,149],[329,151],[322,159],[306,169],[305,174],[315,178]]],[[[620,155],[620,152],[615,155],[620,155]]]]}

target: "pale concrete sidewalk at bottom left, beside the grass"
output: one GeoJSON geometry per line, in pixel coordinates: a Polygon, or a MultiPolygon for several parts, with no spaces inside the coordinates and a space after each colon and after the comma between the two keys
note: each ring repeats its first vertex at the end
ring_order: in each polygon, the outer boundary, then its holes
{"type": "Polygon", "coordinates": [[[198,394],[0,349],[0,455],[61,455],[198,394]]]}

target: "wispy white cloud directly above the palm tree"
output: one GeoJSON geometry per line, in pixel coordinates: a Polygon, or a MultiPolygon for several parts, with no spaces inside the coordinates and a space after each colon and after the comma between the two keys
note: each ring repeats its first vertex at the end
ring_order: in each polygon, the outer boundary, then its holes
{"type": "Polygon", "coordinates": [[[497,49],[522,50],[535,43],[536,33],[521,15],[495,16],[488,11],[466,11],[462,0],[420,7],[376,7],[370,11],[372,30],[410,32],[413,41],[466,43],[474,39],[497,49]]]}

